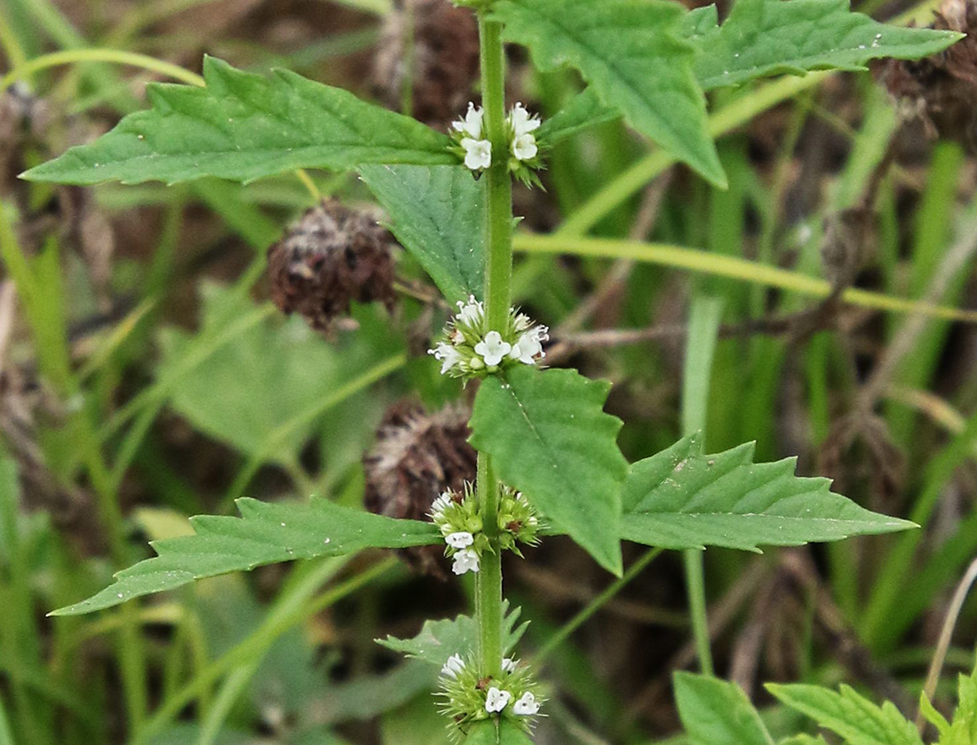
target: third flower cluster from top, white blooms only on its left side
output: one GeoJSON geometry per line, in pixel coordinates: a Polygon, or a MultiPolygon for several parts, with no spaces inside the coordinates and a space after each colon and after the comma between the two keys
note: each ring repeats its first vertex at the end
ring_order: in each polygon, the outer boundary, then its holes
{"type": "MultiPolygon", "coordinates": [[[[483,531],[479,501],[466,483],[463,494],[446,491],[431,505],[431,519],[445,539],[445,556],[454,559],[451,571],[477,572],[483,552],[492,551],[483,531]]],[[[503,551],[523,556],[518,543],[539,543],[539,518],[522,492],[501,485],[498,501],[498,542],[503,551]]]]}

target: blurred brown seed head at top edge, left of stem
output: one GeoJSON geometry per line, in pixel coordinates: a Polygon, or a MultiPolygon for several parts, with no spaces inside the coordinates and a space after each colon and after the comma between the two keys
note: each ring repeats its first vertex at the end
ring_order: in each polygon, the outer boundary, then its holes
{"type": "Polygon", "coordinates": [[[409,93],[414,117],[444,129],[472,100],[479,78],[475,14],[448,0],[394,5],[373,61],[377,93],[398,110],[409,93]]]}

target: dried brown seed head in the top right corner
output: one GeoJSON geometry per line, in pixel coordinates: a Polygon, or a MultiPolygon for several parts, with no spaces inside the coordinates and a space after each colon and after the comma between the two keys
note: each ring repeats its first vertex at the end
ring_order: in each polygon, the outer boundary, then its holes
{"type": "Polygon", "coordinates": [[[967,34],[946,51],[909,62],[887,60],[878,76],[907,118],[919,116],[931,135],[977,151],[977,0],[945,0],[933,28],[967,34]]]}

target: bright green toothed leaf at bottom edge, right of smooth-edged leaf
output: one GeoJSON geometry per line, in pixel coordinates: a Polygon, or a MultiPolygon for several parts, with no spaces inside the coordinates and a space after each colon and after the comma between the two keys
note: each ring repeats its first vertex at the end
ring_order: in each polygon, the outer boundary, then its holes
{"type": "Polygon", "coordinates": [[[841,735],[850,745],[922,745],[912,722],[891,701],[881,707],[842,685],[838,692],[820,685],[775,685],[767,690],[791,709],[841,735]]]}

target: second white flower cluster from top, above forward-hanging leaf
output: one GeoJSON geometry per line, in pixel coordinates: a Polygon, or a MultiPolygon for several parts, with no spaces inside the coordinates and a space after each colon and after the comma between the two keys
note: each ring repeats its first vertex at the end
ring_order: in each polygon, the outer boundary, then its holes
{"type": "Polygon", "coordinates": [[[482,301],[458,301],[458,312],[446,328],[446,340],[428,350],[441,362],[441,374],[452,378],[484,378],[516,364],[532,365],[542,359],[542,343],[549,339],[546,326],[533,324],[525,313],[509,310],[506,327],[489,329],[482,301]]]}

